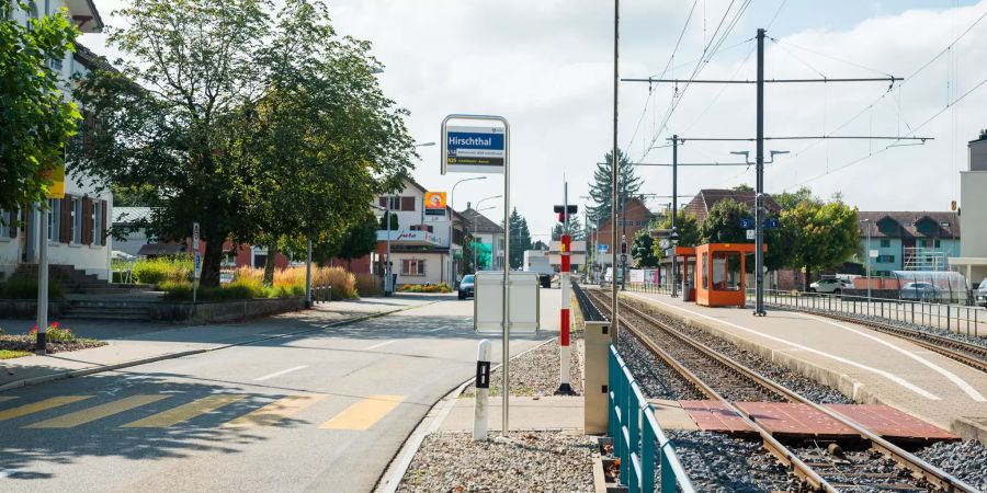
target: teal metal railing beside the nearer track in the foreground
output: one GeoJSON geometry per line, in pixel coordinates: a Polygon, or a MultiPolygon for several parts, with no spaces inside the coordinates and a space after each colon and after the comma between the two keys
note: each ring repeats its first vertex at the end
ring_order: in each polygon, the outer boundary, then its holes
{"type": "Polygon", "coordinates": [[[613,438],[613,455],[621,461],[621,484],[631,493],[653,493],[657,457],[660,491],[674,492],[678,483],[682,493],[694,493],[671,440],[658,426],[651,404],[613,345],[610,346],[609,385],[609,434],[613,438]]]}

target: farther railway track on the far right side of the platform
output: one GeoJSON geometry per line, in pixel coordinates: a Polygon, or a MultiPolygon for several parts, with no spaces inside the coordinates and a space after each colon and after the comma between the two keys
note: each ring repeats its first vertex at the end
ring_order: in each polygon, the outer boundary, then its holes
{"type": "Polygon", "coordinates": [[[828,319],[840,320],[842,322],[855,323],[871,328],[877,332],[895,335],[910,341],[926,349],[939,353],[948,358],[955,359],[964,365],[987,372],[987,346],[972,344],[953,337],[937,335],[931,332],[908,329],[892,323],[877,322],[847,314],[832,313],[827,310],[813,310],[801,307],[790,307],[786,305],[769,303],[783,310],[797,311],[802,313],[812,313],[828,319]]]}

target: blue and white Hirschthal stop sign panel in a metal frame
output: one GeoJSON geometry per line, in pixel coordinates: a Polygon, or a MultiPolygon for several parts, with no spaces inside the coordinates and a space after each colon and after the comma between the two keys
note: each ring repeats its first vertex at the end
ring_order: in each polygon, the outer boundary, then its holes
{"type": "Polygon", "coordinates": [[[503,173],[506,127],[443,126],[442,174],[503,173]]]}

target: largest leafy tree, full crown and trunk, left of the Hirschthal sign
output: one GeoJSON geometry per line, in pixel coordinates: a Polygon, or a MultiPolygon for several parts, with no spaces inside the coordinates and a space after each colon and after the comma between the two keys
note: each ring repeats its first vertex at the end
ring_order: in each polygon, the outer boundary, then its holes
{"type": "Polygon", "coordinates": [[[269,254],[338,242],[411,168],[407,112],[381,92],[370,45],[337,36],[321,2],[271,10],[137,0],[110,37],[133,61],[81,84],[99,125],[79,167],[123,186],[155,183],[162,237],[200,221],[203,285],[218,284],[226,240],[269,254]]]}

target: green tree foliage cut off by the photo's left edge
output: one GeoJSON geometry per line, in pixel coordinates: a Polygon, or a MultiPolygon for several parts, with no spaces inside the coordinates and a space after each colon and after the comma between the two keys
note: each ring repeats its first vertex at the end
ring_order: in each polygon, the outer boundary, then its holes
{"type": "Polygon", "coordinates": [[[0,208],[8,210],[46,202],[48,172],[64,164],[65,142],[81,118],[49,64],[75,51],[79,31],[64,9],[38,19],[27,12],[27,2],[0,1],[0,208]]]}

